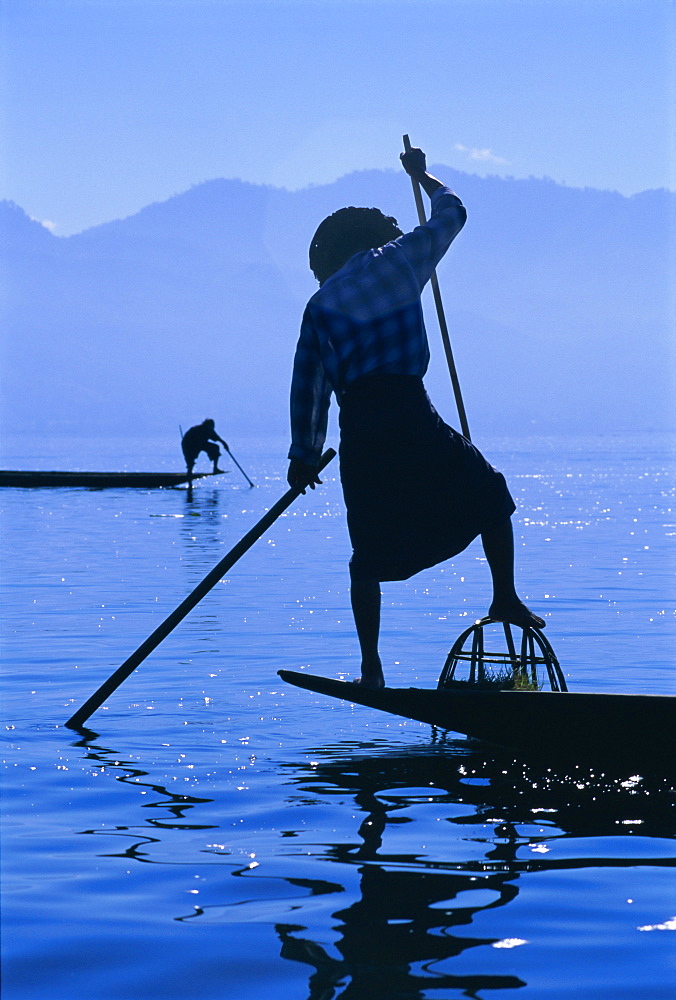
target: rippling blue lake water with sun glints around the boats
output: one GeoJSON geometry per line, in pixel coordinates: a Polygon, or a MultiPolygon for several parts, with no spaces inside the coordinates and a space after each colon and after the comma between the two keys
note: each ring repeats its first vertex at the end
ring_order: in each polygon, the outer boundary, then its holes
{"type": "MultiPolygon", "coordinates": [[[[3,1000],[673,997],[664,775],[557,769],[277,677],[358,669],[337,462],[95,733],[64,728],[285,491],[284,441],[231,444],[256,489],[226,460],[192,500],[0,491],[3,1000]]],[[[480,444],[569,688],[674,693],[669,441],[480,444]]],[[[17,439],[3,467],[181,464],[173,440],[17,439]]],[[[433,687],[488,599],[476,543],[384,585],[388,682],[433,687]]]]}

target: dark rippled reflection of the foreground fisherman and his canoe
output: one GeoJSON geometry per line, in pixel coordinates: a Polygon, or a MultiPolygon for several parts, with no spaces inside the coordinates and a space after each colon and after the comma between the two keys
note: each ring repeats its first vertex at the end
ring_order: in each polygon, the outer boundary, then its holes
{"type": "MultiPolygon", "coordinates": [[[[313,754],[335,756],[329,751],[313,754]]],[[[468,935],[465,928],[481,911],[510,903],[518,894],[519,877],[527,872],[660,864],[633,856],[551,862],[544,842],[571,835],[617,837],[622,824],[639,826],[647,836],[671,831],[665,782],[649,788],[639,777],[622,781],[579,768],[573,774],[538,771],[509,755],[472,753],[466,744],[449,744],[437,752],[327,759],[316,766],[294,765],[293,772],[305,798],[348,791],[364,814],[361,843],[327,845],[325,853],[327,859],[359,865],[361,898],[333,912],[340,959],[308,938],[306,926],[276,925],[282,957],[315,970],[309,1000],[422,1000],[440,989],[477,997],[480,990],[525,986],[517,976],[457,976],[448,968],[468,949],[526,943],[468,935]],[[411,811],[426,800],[436,804],[437,813],[439,804],[447,803],[445,820],[467,828],[469,857],[450,861],[435,859],[429,850],[413,856],[383,851],[388,827],[413,821],[411,811]],[[466,809],[454,808],[458,805],[466,809]],[[545,853],[534,856],[539,850],[545,853]]],[[[458,838],[451,839],[457,851],[458,838]]],[[[433,849],[442,845],[439,832],[433,849]]]]}

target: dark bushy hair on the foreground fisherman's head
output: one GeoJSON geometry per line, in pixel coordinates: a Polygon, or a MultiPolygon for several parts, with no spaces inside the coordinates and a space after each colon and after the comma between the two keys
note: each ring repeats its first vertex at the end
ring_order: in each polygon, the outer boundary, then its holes
{"type": "Polygon", "coordinates": [[[321,284],[354,254],[373,250],[403,233],[379,208],[340,208],[319,225],[310,243],[310,270],[321,284]]]}

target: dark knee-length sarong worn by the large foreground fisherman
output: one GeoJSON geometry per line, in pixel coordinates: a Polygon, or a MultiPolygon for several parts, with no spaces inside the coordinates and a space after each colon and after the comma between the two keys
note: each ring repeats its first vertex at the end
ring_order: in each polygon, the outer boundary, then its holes
{"type": "Polygon", "coordinates": [[[369,375],[340,400],[354,579],[406,580],[515,510],[504,476],[449,427],[422,379],[369,375]]]}

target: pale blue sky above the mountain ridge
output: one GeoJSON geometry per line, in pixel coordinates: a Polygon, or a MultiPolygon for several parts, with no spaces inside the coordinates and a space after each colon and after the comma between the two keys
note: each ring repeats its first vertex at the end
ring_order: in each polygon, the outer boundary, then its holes
{"type": "Polygon", "coordinates": [[[673,186],[670,0],[2,0],[0,197],[58,234],[214,177],[673,186]]]}

